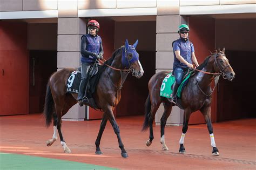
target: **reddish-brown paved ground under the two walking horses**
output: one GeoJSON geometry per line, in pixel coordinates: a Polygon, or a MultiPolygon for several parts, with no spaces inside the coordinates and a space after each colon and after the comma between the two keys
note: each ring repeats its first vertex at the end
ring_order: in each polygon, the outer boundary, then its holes
{"type": "Polygon", "coordinates": [[[161,151],[159,126],[154,127],[153,143],[147,147],[145,142],[149,131],[140,132],[142,116],[117,118],[117,123],[129,154],[127,159],[121,157],[116,135],[109,123],[101,141],[104,154],[95,155],[94,143],[100,120],[63,122],[63,135],[71,154],[63,153],[59,139],[47,147],[45,142],[52,137],[53,128],[45,128],[42,114],[0,117],[0,152],[119,169],[256,169],[256,119],[213,124],[219,157],[211,155],[206,125],[188,127],[184,143],[186,154],[179,154],[181,127],[166,127],[165,140],[170,150],[161,151]]]}

